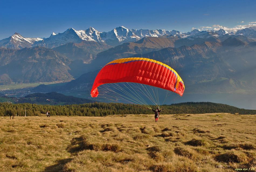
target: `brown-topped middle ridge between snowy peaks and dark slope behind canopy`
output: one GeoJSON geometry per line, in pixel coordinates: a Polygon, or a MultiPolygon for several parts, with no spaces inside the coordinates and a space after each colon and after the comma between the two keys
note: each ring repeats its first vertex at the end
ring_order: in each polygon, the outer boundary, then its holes
{"type": "MultiPolygon", "coordinates": [[[[96,68],[96,66],[104,66],[106,63],[119,59],[119,58],[126,58],[135,54],[145,54],[152,51],[161,50],[163,48],[168,47],[182,47],[182,46],[192,46],[192,45],[200,45],[205,42],[214,42],[220,43],[221,41],[216,37],[213,37],[208,32],[201,32],[203,35],[202,37],[194,37],[191,38],[184,38],[180,39],[178,36],[168,36],[166,38],[159,38],[159,37],[144,37],[139,41],[134,43],[124,43],[122,45],[118,45],[114,48],[110,48],[106,51],[100,52],[97,54],[97,57],[92,61],[92,64],[86,68],[85,72],[89,72],[92,68],[96,68]]],[[[202,36],[202,35],[201,35],[202,36]]],[[[238,40],[237,38],[232,38],[231,36],[227,37],[227,40],[232,40],[234,43],[238,42],[237,44],[243,44],[242,41],[238,40]]],[[[223,41],[223,44],[228,44],[230,41],[223,41]]],[[[231,44],[234,44],[231,43],[231,44]]],[[[159,60],[160,61],[160,60],[159,60]]]]}

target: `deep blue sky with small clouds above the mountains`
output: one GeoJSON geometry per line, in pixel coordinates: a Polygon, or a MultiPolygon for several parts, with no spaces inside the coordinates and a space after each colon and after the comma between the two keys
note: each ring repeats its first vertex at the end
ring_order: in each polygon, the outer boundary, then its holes
{"type": "Polygon", "coordinates": [[[127,29],[236,31],[256,26],[255,0],[222,1],[0,1],[0,40],[15,32],[47,38],[68,28],[101,32],[127,29]]]}

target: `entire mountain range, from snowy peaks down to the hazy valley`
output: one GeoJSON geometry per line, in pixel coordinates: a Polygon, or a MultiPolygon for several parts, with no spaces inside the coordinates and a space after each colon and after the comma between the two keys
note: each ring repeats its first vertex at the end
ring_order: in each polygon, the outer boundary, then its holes
{"type": "Polygon", "coordinates": [[[174,68],[189,93],[256,92],[256,27],[225,30],[67,29],[49,38],[15,33],[0,40],[0,85],[75,78],[62,87],[37,92],[89,90],[108,62],[144,57],[174,68]],[[55,89],[55,90],[54,90],[55,89]]]}

